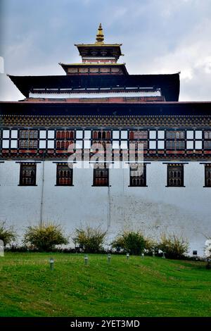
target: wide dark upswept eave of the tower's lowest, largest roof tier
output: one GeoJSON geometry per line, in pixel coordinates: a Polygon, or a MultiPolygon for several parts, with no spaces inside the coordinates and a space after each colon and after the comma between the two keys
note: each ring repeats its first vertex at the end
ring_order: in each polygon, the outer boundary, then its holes
{"type": "Polygon", "coordinates": [[[28,97],[32,88],[76,87],[156,87],[162,89],[166,101],[179,100],[179,73],[169,75],[8,75],[16,87],[28,97]]]}

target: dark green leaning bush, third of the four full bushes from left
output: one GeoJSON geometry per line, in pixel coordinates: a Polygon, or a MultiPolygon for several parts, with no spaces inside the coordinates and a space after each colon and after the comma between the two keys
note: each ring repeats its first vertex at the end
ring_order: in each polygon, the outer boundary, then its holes
{"type": "Polygon", "coordinates": [[[139,231],[124,231],[115,238],[111,246],[113,248],[120,247],[130,254],[139,255],[146,248],[146,239],[139,231]]]}

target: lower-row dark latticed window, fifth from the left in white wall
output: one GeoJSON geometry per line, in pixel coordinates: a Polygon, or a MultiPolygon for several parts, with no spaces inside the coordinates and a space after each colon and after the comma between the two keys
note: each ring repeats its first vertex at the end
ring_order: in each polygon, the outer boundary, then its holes
{"type": "Polygon", "coordinates": [[[181,164],[167,165],[167,186],[173,186],[173,187],[184,186],[184,165],[181,164]]]}

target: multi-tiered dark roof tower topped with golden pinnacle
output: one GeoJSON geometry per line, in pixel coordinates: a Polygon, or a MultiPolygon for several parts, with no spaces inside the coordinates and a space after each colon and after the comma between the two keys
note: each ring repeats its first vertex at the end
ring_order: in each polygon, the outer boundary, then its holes
{"type": "Polygon", "coordinates": [[[66,75],[9,77],[30,101],[178,101],[179,73],[129,75],[125,63],[117,63],[121,45],[104,43],[100,24],[94,44],[75,45],[82,63],[60,63],[66,75]]]}

